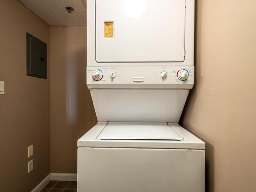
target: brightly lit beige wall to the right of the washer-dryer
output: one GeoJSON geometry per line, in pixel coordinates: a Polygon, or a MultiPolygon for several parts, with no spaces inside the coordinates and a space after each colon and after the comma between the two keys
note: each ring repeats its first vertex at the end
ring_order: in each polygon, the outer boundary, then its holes
{"type": "Polygon", "coordinates": [[[198,0],[181,124],[206,142],[207,191],[256,191],[256,1],[198,0]]]}

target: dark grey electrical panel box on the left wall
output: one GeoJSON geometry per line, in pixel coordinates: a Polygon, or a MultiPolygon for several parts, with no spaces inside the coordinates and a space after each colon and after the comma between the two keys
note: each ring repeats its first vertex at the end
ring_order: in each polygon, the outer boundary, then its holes
{"type": "Polygon", "coordinates": [[[27,75],[47,79],[47,44],[27,33],[27,75]]]}

